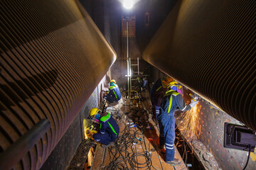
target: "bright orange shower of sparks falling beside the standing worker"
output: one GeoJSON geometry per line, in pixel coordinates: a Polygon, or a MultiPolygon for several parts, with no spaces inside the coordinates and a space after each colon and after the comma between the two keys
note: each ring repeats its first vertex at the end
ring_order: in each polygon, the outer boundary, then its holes
{"type": "Polygon", "coordinates": [[[198,111],[199,105],[194,106],[191,110],[181,113],[181,115],[176,118],[176,123],[178,123],[178,129],[181,130],[183,135],[188,137],[195,137],[198,130],[198,111]]]}

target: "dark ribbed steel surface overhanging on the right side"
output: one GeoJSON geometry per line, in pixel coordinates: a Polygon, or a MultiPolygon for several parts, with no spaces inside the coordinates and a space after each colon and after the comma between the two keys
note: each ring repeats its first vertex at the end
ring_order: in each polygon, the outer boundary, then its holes
{"type": "Polygon", "coordinates": [[[143,58],[256,130],[256,1],[178,1],[143,58]]]}

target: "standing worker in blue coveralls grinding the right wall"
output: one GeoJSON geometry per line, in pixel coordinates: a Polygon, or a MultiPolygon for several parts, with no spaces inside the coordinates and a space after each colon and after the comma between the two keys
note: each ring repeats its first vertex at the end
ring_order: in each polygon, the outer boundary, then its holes
{"type": "Polygon", "coordinates": [[[160,114],[158,117],[160,128],[160,149],[166,145],[166,163],[167,164],[179,164],[178,159],[174,159],[174,140],[175,140],[175,118],[174,112],[178,107],[181,111],[188,111],[193,106],[196,106],[198,101],[191,100],[189,105],[186,105],[183,101],[181,94],[177,90],[177,82],[171,81],[166,91],[166,94],[162,98],[160,114]]]}

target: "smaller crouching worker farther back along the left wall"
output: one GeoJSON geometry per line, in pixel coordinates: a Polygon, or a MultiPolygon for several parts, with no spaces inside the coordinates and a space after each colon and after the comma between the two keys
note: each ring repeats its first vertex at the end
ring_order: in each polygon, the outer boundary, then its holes
{"type": "Polygon", "coordinates": [[[110,81],[110,89],[107,95],[103,98],[105,98],[109,103],[118,102],[120,100],[121,93],[117,86],[117,82],[114,79],[110,81]]]}

